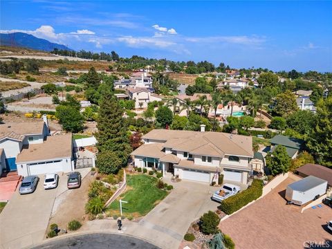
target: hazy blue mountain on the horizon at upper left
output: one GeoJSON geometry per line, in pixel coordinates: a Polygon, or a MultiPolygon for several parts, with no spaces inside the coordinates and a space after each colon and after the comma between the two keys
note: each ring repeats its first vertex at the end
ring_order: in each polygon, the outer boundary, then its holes
{"type": "Polygon", "coordinates": [[[64,45],[48,42],[46,39],[40,39],[26,33],[0,34],[1,46],[15,46],[21,48],[31,48],[35,50],[52,51],[54,48],[62,50],[72,50],[64,45]]]}

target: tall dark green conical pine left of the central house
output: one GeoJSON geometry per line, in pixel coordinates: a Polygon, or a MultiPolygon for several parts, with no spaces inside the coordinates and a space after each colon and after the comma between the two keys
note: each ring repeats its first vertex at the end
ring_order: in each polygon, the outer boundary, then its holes
{"type": "MultiPolygon", "coordinates": [[[[121,160],[120,167],[127,166],[131,146],[127,136],[127,127],[122,118],[123,109],[112,93],[106,93],[100,104],[98,115],[98,150],[100,152],[111,151],[121,160]]],[[[98,158],[97,158],[98,160],[98,158]]],[[[110,158],[111,160],[111,158],[110,158]]]]}

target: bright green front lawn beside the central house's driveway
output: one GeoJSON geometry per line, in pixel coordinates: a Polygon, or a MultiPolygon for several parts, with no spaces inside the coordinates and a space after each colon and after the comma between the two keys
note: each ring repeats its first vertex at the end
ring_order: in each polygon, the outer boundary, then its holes
{"type": "MultiPolygon", "coordinates": [[[[147,214],[156,204],[167,196],[167,191],[156,187],[157,178],[143,174],[127,175],[127,188],[120,199],[128,201],[122,203],[122,212],[133,216],[143,216],[147,214]]],[[[120,203],[113,201],[109,206],[110,210],[120,212],[120,203]]]]}

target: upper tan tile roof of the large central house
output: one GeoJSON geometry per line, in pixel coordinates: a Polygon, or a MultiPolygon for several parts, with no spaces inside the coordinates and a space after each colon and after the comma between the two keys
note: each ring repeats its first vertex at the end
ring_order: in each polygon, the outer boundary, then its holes
{"type": "Polygon", "coordinates": [[[220,155],[222,157],[225,154],[254,156],[251,136],[212,131],[201,132],[154,129],[145,134],[145,136],[142,136],[142,138],[167,141],[163,147],[171,147],[178,151],[195,151],[196,154],[203,154],[204,152],[206,155],[220,155]]]}

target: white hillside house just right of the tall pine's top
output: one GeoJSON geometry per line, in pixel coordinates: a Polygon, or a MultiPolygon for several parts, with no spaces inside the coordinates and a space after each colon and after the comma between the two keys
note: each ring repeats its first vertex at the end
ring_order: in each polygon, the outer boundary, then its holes
{"type": "Polygon", "coordinates": [[[145,108],[149,102],[161,101],[163,100],[158,95],[151,93],[146,88],[133,88],[127,89],[129,100],[135,101],[135,108],[145,108]],[[142,103],[142,104],[140,104],[142,103]]]}

